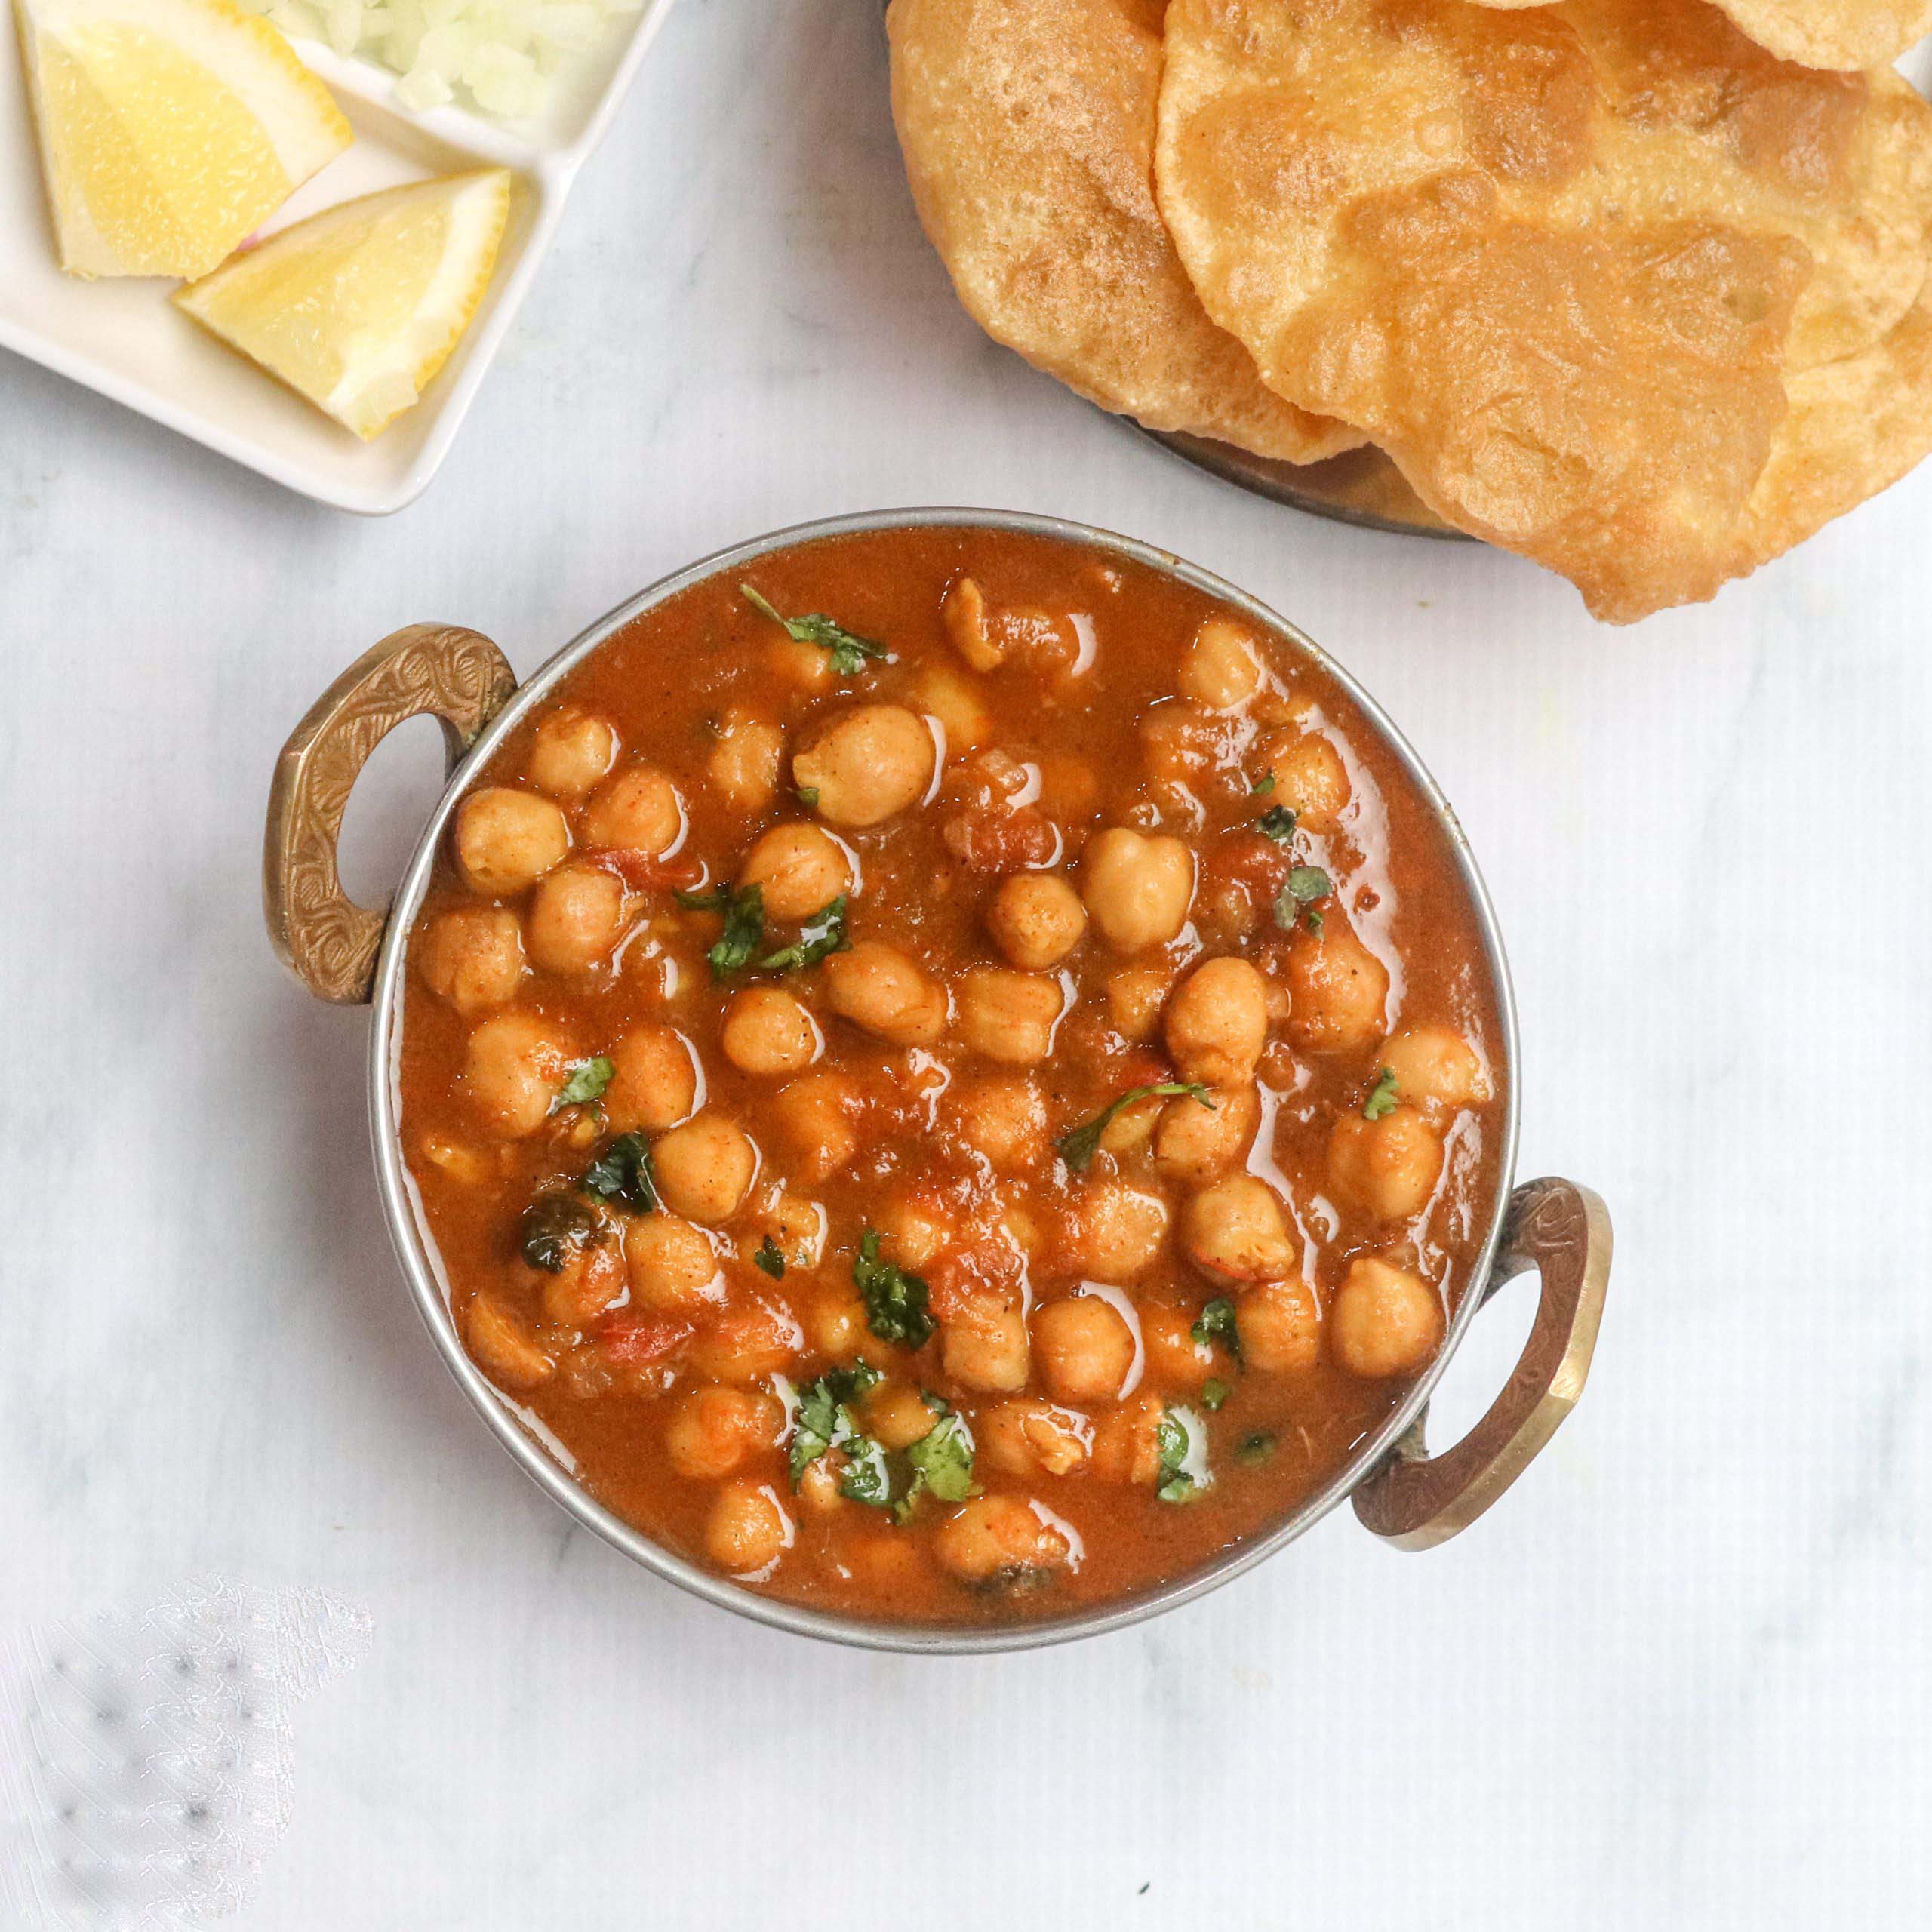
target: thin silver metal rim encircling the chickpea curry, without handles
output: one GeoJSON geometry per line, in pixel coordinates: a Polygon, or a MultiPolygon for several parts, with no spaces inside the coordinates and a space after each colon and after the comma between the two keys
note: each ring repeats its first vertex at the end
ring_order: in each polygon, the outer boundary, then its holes
{"type": "Polygon", "coordinates": [[[922,1656],[981,1656],[1005,1650],[1037,1650],[1049,1644],[1065,1644],[1084,1636],[1101,1636],[1122,1631],[1148,1617],[1179,1609],[1217,1590],[1236,1577],[1256,1569],[1298,1536],[1306,1534],[1331,1509],[1350,1495],[1364,1478],[1389,1455],[1391,1447],[1416,1422],[1428,1406],[1435,1383],[1449,1366],[1463,1335],[1468,1331],[1476,1310],[1486,1296],[1486,1285],[1495,1262],[1497,1242],[1503,1233],[1503,1217],[1509,1208],[1511,1188],[1517,1175],[1517,1138],[1520,1124],[1520,1041],[1517,1024],[1515,989],[1509,978],[1509,960],[1503,952],[1501,929],[1495,906],[1476,867],[1468,838],[1455,810],[1443,796],[1441,786],[1416,755],[1414,746],[1403,736],[1395,721],[1383,707],[1356,682],[1356,678],[1337,663],[1320,643],[1316,643],[1296,624],[1281,612],[1264,605],[1258,597],[1238,589],[1225,578],[1200,564],[1163,551],[1157,545],[1124,537],[1117,531],[1101,529],[1066,518],[1039,516],[1022,510],[976,510],[947,506],[912,506],[898,510],[862,510],[844,516],[817,518],[806,524],[790,524],[765,531],[744,543],[734,543],[723,551],[713,551],[655,583],[626,597],[601,618],[578,632],[562,649],[554,651],[543,665],[524,678],[510,701],[481,732],[462,761],[450,771],[444,788],[423,823],[410,862],[402,871],[394,900],[388,910],[388,923],[383,933],[383,951],[377,962],[373,987],[373,1024],[369,1028],[369,1134],[375,1155],[377,1186],[383,1200],[383,1217],[388,1225],[396,1260],[410,1285],[417,1314],[429,1329],[444,1368],[456,1378],[469,1397],[471,1406],[483,1416],[497,1441],[510,1453],[526,1476],[545,1490],[553,1501],[566,1509],[583,1528],[591,1530],[634,1563],[676,1584],[680,1590],[715,1604],[721,1609],[750,1617],[796,1636],[813,1636],[825,1642],[854,1646],[860,1650],[891,1650],[922,1656]],[[402,987],[408,960],[408,937],[421,906],[437,850],[458,800],[469,788],[481,767],[495,755],[524,719],[566,678],[585,657],[597,651],[616,630],[634,618],[655,611],[672,597],[709,578],[728,570],[742,570],[775,551],[790,551],[810,543],[837,537],[867,535],[893,529],[993,529],[1032,537],[1045,537],[1086,551],[1099,551],[1119,556],[1161,576],[1173,578],[1192,589],[1204,591],[1246,614],[1252,622],[1293,649],[1306,653],[1327,676],[1331,676],[1350,701],[1360,707],[1362,717],[1381,734],[1383,744],[1401,761],[1410,782],[1435,813],[1449,848],[1455,856],[1457,871],[1468,902],[1476,912],[1476,925],[1482,935],[1484,956],[1495,987],[1497,1020],[1503,1034],[1507,1057],[1501,1161],[1497,1165],[1495,1200],[1490,1208],[1490,1227],[1484,1235],[1476,1262],[1468,1271],[1463,1298],[1451,1314],[1443,1345],[1435,1360],[1424,1370],[1416,1383],[1397,1403],[1383,1424],[1354,1449],[1347,1463],[1316,1490],[1287,1519],[1277,1522],[1267,1534],[1236,1544],[1211,1561],[1153,1584],[1132,1596],[1097,1604],[1088,1609],[1068,1611],[1063,1617],[1041,1619],[1037,1623],[1009,1625],[927,1625],[927,1623],[883,1623],[864,1617],[838,1615],[825,1609],[811,1609],[767,1598],[744,1588],[726,1577],[719,1577],[699,1565],[680,1557],[676,1551],[653,1542],[643,1530],[634,1528],[622,1517],[599,1503],[583,1484],[572,1476],[564,1464],[568,1451],[543,1424],[506,1397],[464,1352],[450,1314],[448,1296],[440,1279],[440,1262],[435,1260],[433,1242],[417,1209],[415,1182],[402,1157],[402,1134],[396,1101],[396,1063],[402,1039],[402,987]],[[549,1439],[547,1439],[549,1437],[549,1439]]]}

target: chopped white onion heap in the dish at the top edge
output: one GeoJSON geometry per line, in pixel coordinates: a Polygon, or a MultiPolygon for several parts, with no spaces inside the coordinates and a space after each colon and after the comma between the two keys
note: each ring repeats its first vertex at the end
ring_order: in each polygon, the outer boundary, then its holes
{"type": "Polygon", "coordinates": [[[290,39],[325,41],[402,75],[396,99],[423,112],[462,89],[485,114],[543,112],[556,70],[643,0],[242,0],[290,39]]]}

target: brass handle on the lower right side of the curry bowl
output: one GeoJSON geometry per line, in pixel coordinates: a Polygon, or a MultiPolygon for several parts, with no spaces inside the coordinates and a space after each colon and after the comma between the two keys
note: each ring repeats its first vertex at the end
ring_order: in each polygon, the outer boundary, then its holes
{"type": "Polygon", "coordinates": [[[1573,1180],[1526,1180],[1509,1198],[1484,1300],[1526,1267],[1542,1273],[1536,1325],[1488,1414],[1453,1449],[1432,1457],[1424,1410],[1354,1492],[1354,1513],[1399,1549],[1428,1549],[1468,1528],[1530,1466],[1582,1395],[1609,1287],[1609,1209],[1573,1180]]]}

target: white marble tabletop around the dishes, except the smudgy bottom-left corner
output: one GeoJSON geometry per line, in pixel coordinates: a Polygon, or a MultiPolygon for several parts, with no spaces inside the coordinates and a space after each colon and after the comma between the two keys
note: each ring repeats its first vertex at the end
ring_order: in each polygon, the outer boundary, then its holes
{"type": "MultiPolygon", "coordinates": [[[[1524,564],[1198,477],[964,321],[869,0],[684,0],[390,522],[0,361],[0,1621],[203,1569],[373,1615],[296,1714],[247,1932],[1924,1924],[1928,514],[1932,471],[1605,632],[1524,564]],[[844,1654],[574,1532],[437,1366],[365,1022],[261,931],[282,736],[400,622],[527,668],[707,549],[922,500],[1250,585],[1457,800],[1524,1173],[1619,1233],[1582,1408],[1463,1540],[1391,1555],[1339,1515],[1109,1640],[844,1654]]],[[[402,740],[365,881],[433,788],[402,740]]],[[[1478,1323],[1445,1426],[1526,1308],[1478,1323]]]]}

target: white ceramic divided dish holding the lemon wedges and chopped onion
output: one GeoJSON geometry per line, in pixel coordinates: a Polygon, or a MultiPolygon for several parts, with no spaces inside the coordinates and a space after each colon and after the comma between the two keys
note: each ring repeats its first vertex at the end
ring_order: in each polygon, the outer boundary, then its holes
{"type": "MultiPolygon", "coordinates": [[[[10,0],[0,0],[0,12],[12,14],[10,0]]],[[[643,0],[638,14],[614,19],[605,43],[558,75],[545,118],[516,124],[460,106],[410,114],[396,104],[396,75],[386,68],[296,43],[350,118],[355,145],[307,182],[269,230],[431,174],[481,166],[516,174],[510,226],[483,309],[423,400],[375,442],[352,437],[214,342],[168,301],[172,282],[81,282],[60,272],[12,19],[0,21],[0,348],[31,355],[317,502],[367,516],[400,510],[448,454],[551,245],[564,197],[668,12],[670,0],[643,0]]]]}

